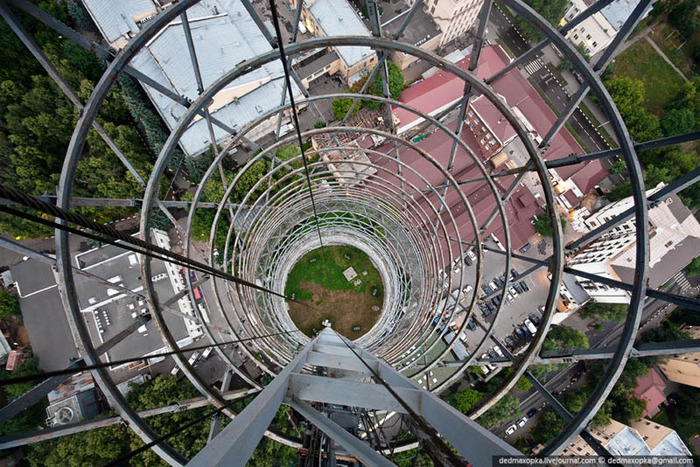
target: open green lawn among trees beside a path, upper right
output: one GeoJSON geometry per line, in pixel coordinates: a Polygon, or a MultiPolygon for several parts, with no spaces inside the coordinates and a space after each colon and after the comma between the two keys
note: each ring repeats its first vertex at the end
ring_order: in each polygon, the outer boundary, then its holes
{"type": "Polygon", "coordinates": [[[617,76],[630,76],[644,83],[645,108],[659,117],[683,84],[683,78],[644,39],[618,55],[615,68],[617,76]]]}

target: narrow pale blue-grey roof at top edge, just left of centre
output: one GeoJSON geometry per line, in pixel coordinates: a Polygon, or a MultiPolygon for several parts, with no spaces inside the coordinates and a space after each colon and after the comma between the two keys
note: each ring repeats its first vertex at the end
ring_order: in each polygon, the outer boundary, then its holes
{"type": "MultiPolygon", "coordinates": [[[[369,36],[369,30],[347,0],[316,0],[309,8],[327,36],[369,36]]],[[[336,47],[348,67],[369,57],[369,47],[336,47]]]]}

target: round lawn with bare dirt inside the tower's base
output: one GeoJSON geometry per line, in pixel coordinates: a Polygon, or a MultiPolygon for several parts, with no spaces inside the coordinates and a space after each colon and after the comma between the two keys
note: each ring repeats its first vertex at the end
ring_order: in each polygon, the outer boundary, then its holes
{"type": "Polygon", "coordinates": [[[325,256],[320,248],[307,253],[289,273],[286,295],[309,304],[289,302],[289,315],[308,336],[328,319],[333,329],[356,339],[369,331],[381,314],[382,279],[364,252],[345,245],[326,246],[324,250],[325,256]],[[355,269],[361,284],[355,286],[354,281],[345,279],[343,271],[349,267],[355,269]]]}

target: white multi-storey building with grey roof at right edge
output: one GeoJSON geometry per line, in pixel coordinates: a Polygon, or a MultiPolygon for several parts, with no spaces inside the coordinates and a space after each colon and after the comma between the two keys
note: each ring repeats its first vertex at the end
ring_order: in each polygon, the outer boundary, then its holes
{"type": "MultiPolygon", "coordinates": [[[[660,183],[647,197],[663,188],[660,183]]],[[[632,197],[609,204],[585,220],[593,230],[634,206],[632,197]]],[[[628,284],[634,282],[635,219],[606,232],[570,261],[576,269],[628,284]]],[[[677,196],[649,209],[649,287],[657,288],[700,255],[700,224],[677,196]]],[[[601,303],[629,303],[624,290],[585,279],[579,284],[601,303]]]]}

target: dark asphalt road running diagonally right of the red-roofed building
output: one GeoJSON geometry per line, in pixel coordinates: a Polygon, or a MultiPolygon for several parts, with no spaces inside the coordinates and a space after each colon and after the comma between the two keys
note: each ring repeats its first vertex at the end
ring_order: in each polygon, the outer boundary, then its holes
{"type": "MultiPolygon", "coordinates": [[[[506,44],[511,52],[520,56],[530,48],[527,41],[518,33],[517,29],[499,8],[491,10],[489,19],[491,26],[497,31],[498,37],[506,44]]],[[[542,54],[540,53],[538,57],[541,56],[542,54]]],[[[557,110],[563,110],[566,103],[569,101],[569,95],[556,81],[556,78],[550,74],[549,70],[547,70],[546,67],[541,67],[532,75],[532,78],[534,85],[544,92],[547,99],[557,110]]],[[[569,123],[578,137],[581,138],[586,145],[584,149],[588,149],[589,152],[608,149],[608,145],[603,137],[598,134],[593,124],[586,119],[580,110],[574,112],[569,119],[569,123]]]]}

